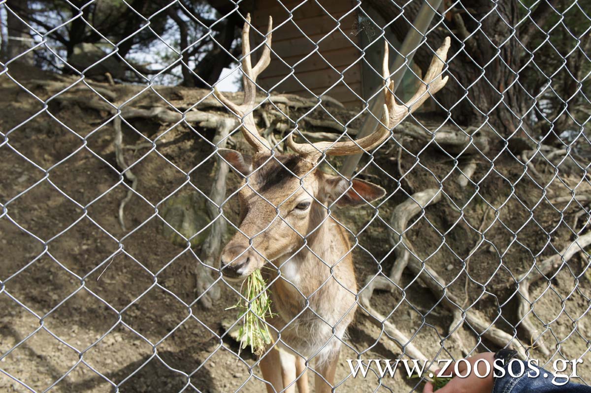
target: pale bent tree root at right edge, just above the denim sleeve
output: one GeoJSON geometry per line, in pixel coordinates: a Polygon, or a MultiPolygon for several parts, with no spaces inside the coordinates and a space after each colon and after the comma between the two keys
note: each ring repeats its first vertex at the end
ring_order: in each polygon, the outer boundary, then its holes
{"type": "MultiPolygon", "coordinates": [[[[530,338],[534,338],[536,329],[530,320],[530,314],[533,311],[534,304],[530,300],[530,286],[535,281],[544,277],[547,281],[550,281],[548,275],[552,271],[559,270],[565,263],[567,263],[574,254],[579,251],[584,251],[584,248],[591,244],[591,232],[580,236],[576,240],[572,241],[560,254],[553,255],[541,261],[541,263],[535,264],[532,268],[525,273],[521,274],[518,279],[518,291],[521,297],[519,297],[519,307],[517,310],[517,316],[521,320],[519,325],[524,330],[525,335],[530,338]],[[539,274],[535,274],[535,273],[539,274]],[[534,273],[534,274],[532,274],[534,273]]],[[[544,355],[550,355],[550,351],[544,345],[543,342],[538,343],[539,349],[544,355]]]]}

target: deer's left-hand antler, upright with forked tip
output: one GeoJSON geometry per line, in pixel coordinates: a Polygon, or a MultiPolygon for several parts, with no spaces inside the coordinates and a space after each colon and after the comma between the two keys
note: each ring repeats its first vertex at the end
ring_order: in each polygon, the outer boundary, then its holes
{"type": "Polygon", "coordinates": [[[267,68],[271,63],[271,30],[273,28],[273,19],[269,16],[269,28],[267,30],[265,45],[261,58],[256,65],[252,67],[251,63],[251,42],[249,32],[251,30],[251,14],[246,15],[246,21],[242,28],[242,81],[244,85],[244,99],[241,105],[236,105],[225,97],[217,87],[215,88],[216,96],[222,103],[232,110],[236,116],[242,119],[242,134],[250,145],[255,148],[256,152],[263,152],[271,150],[271,146],[267,139],[264,139],[256,129],[255,118],[252,112],[255,109],[256,102],[256,78],[259,74],[267,68]]]}

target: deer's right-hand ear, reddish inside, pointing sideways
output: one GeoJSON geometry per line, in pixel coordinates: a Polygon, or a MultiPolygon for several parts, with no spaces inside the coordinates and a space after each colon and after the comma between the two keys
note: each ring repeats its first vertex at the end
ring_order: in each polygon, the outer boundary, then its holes
{"type": "Polygon", "coordinates": [[[373,202],[386,194],[385,189],[359,179],[349,179],[340,176],[327,176],[324,183],[325,192],[330,199],[336,201],[338,207],[359,206],[373,202]]]}

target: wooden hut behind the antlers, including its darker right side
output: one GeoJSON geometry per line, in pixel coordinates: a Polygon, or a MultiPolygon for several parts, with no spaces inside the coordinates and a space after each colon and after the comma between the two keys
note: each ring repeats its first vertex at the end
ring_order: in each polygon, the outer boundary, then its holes
{"type": "MultiPolygon", "coordinates": [[[[376,38],[384,35],[398,46],[389,28],[382,29],[387,23],[381,15],[356,1],[251,0],[242,11],[251,12],[252,25],[260,32],[251,31],[253,48],[267,31],[269,15],[273,18],[274,54],[258,79],[265,90],[303,97],[326,94],[359,109],[383,86],[384,38],[376,38]]],[[[406,96],[406,86],[416,81],[407,73],[398,94],[406,96]]]]}

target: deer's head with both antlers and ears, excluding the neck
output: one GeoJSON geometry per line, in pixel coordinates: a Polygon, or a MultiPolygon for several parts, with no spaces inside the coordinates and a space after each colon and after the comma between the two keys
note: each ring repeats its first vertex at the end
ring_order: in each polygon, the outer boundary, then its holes
{"type": "Polygon", "coordinates": [[[441,71],[450,45],[446,38],[417,93],[407,103],[399,105],[389,78],[386,43],[382,67],[385,104],[378,129],[361,139],[343,142],[296,143],[290,134],[287,145],[294,153],[279,154],[261,137],[253,116],[256,78],[270,63],[272,19],[269,17],[262,56],[254,67],[250,58],[249,28],[248,15],[242,31],[243,103],[237,105],[216,90],[220,101],[242,119],[242,133],[255,149],[252,156],[236,150],[217,150],[245,178],[238,192],[241,224],[221,255],[222,273],[230,279],[243,279],[267,261],[300,250],[305,241],[320,233],[319,228],[333,206],[362,205],[385,195],[378,185],[320,171],[319,159],[323,155],[361,153],[381,145],[398,123],[444,86],[447,77],[442,79],[441,71]]]}

